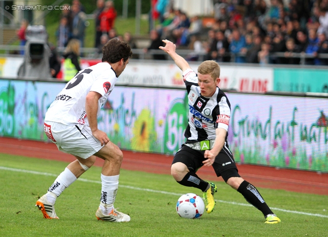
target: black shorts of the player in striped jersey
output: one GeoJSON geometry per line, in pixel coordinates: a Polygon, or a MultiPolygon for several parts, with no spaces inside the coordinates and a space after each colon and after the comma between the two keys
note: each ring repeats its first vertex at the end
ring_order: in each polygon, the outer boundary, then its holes
{"type": "MultiPolygon", "coordinates": [[[[181,149],[175,154],[172,164],[181,162],[185,164],[190,171],[197,172],[203,166],[204,151],[198,151],[189,146],[182,145],[181,149]]],[[[230,177],[240,177],[234,157],[227,147],[223,147],[219,154],[215,157],[212,165],[216,176],[222,176],[224,181],[228,181],[230,177]]]]}

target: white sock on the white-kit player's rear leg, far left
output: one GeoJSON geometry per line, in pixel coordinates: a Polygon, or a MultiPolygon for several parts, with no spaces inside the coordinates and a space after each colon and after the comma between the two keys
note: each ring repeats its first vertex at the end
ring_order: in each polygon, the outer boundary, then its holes
{"type": "Polygon", "coordinates": [[[65,170],[58,175],[55,182],[48,189],[48,192],[52,192],[56,194],[56,196],[59,196],[60,193],[63,192],[65,188],[70,186],[75,180],[75,175],[68,168],[65,168],[65,170]]]}

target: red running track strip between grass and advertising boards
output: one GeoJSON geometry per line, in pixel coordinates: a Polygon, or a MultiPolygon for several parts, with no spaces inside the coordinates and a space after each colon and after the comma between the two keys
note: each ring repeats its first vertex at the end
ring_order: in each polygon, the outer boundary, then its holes
{"type": "MultiPolygon", "coordinates": [[[[7,137],[0,137],[0,153],[64,162],[75,160],[73,155],[58,151],[53,143],[17,140],[7,137]]],[[[170,174],[173,156],[131,151],[123,151],[123,154],[122,169],[170,174]]],[[[103,160],[97,159],[95,165],[102,166],[103,163],[103,160]]],[[[328,173],[244,164],[237,165],[237,167],[239,174],[256,187],[328,195],[328,173]]],[[[216,177],[212,167],[202,167],[197,174],[204,180],[223,182],[221,177],[216,177]]]]}

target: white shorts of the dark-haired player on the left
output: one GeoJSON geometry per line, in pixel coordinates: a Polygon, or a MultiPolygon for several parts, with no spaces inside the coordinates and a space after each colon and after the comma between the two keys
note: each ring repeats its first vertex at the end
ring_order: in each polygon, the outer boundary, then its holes
{"type": "Polygon", "coordinates": [[[86,125],[68,126],[61,123],[45,121],[44,129],[49,139],[58,150],[87,159],[98,152],[102,146],[86,125]]]}

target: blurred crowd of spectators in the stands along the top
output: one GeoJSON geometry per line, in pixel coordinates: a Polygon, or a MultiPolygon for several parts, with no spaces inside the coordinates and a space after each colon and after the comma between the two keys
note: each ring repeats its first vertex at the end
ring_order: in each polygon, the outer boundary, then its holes
{"type": "MultiPolygon", "coordinates": [[[[328,65],[328,0],[214,0],[214,17],[190,17],[173,8],[170,0],[153,0],[150,17],[159,24],[150,27],[151,45],[158,49],[161,39],[174,42],[177,49],[190,49],[187,60],[258,64],[328,65]],[[156,32],[154,32],[156,31],[156,32]]],[[[117,35],[117,16],[113,1],[97,0],[95,44],[98,53],[104,42],[113,37],[128,41],[137,48],[133,36],[117,35]]],[[[57,30],[57,47],[66,47],[76,38],[84,45],[85,14],[79,0],[73,0],[71,11],[63,12],[57,30]]],[[[137,58],[136,56],[134,56],[137,58]]],[[[163,55],[153,58],[165,60],[163,55]]]]}

